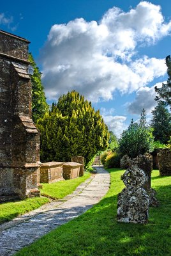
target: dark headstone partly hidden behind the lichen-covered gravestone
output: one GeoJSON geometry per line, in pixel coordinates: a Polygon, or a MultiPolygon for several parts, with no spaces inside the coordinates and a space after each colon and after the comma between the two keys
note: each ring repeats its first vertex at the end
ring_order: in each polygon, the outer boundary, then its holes
{"type": "Polygon", "coordinates": [[[131,160],[131,166],[137,166],[142,169],[147,176],[147,181],[145,182],[143,188],[150,197],[150,206],[157,207],[158,200],[156,199],[156,191],[151,188],[151,172],[152,172],[152,156],[149,153],[144,155],[138,155],[136,158],[131,160]]]}

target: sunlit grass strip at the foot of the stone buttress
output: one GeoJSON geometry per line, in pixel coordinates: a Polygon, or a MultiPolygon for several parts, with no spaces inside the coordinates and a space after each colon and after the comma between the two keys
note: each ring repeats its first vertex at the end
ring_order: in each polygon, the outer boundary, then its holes
{"type": "Polygon", "coordinates": [[[34,197],[26,200],[0,204],[0,224],[49,202],[48,198],[34,197]]]}

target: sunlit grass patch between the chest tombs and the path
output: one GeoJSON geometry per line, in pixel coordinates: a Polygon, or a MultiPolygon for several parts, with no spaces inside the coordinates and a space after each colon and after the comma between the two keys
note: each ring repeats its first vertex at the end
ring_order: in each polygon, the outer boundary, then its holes
{"type": "Polygon", "coordinates": [[[73,180],[62,180],[56,183],[43,183],[43,189],[40,189],[41,194],[52,196],[53,198],[64,198],[64,196],[71,194],[80,183],[91,177],[89,172],[84,172],[84,176],[73,180]]]}

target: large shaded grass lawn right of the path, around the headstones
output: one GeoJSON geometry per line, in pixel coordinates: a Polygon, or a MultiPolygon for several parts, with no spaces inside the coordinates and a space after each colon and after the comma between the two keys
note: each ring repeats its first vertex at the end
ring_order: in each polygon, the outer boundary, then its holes
{"type": "Polygon", "coordinates": [[[152,188],[160,207],[149,212],[149,224],[117,223],[117,193],[123,189],[122,170],[110,169],[107,195],[92,209],[18,252],[17,256],[170,256],[171,177],[152,172],[152,188]]]}

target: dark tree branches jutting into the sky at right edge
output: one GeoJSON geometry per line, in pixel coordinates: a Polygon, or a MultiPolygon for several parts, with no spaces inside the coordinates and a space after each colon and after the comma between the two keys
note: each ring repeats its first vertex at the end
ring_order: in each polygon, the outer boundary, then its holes
{"type": "Polygon", "coordinates": [[[170,55],[166,58],[168,79],[166,84],[162,84],[161,88],[155,87],[155,91],[158,93],[155,100],[164,100],[164,102],[170,106],[171,109],[171,59],[170,55]]]}

